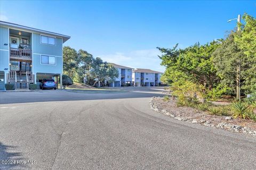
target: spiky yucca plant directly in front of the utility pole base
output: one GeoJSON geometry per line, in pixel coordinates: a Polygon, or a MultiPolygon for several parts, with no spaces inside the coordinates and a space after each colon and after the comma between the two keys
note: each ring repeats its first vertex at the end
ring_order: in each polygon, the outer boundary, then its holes
{"type": "Polygon", "coordinates": [[[243,101],[238,101],[231,104],[231,110],[233,111],[234,118],[249,118],[249,109],[250,105],[246,104],[243,101]]]}

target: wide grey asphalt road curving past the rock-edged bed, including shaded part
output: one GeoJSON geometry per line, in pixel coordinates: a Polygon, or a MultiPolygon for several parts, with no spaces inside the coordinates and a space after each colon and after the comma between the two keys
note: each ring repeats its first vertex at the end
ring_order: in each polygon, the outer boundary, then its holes
{"type": "Polygon", "coordinates": [[[0,92],[0,169],[256,169],[256,139],[149,108],[159,88],[0,92]]]}

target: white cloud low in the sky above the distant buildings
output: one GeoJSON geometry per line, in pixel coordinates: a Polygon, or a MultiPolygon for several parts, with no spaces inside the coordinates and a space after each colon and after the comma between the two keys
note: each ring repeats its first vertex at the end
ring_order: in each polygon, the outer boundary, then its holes
{"type": "Polygon", "coordinates": [[[128,53],[116,52],[115,54],[99,55],[98,57],[110,63],[164,72],[165,68],[160,65],[161,60],[158,55],[161,55],[158,49],[143,49],[128,53]]]}

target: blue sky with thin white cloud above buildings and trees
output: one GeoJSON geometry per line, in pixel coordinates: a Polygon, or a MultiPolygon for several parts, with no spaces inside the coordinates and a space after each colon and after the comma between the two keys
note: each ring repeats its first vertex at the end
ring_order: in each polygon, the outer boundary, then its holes
{"type": "Polygon", "coordinates": [[[224,38],[256,1],[0,1],[0,19],[71,36],[64,44],[103,60],[164,71],[156,47],[224,38]]]}

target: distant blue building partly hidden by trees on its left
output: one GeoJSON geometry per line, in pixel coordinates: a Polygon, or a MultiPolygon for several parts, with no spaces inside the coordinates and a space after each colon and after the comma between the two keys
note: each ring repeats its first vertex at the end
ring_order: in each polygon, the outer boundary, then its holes
{"type": "Polygon", "coordinates": [[[109,63],[113,65],[119,72],[118,78],[115,82],[109,83],[110,87],[121,87],[121,86],[131,86],[132,85],[132,68],[123,65],[118,65],[114,63],[109,63]]]}

